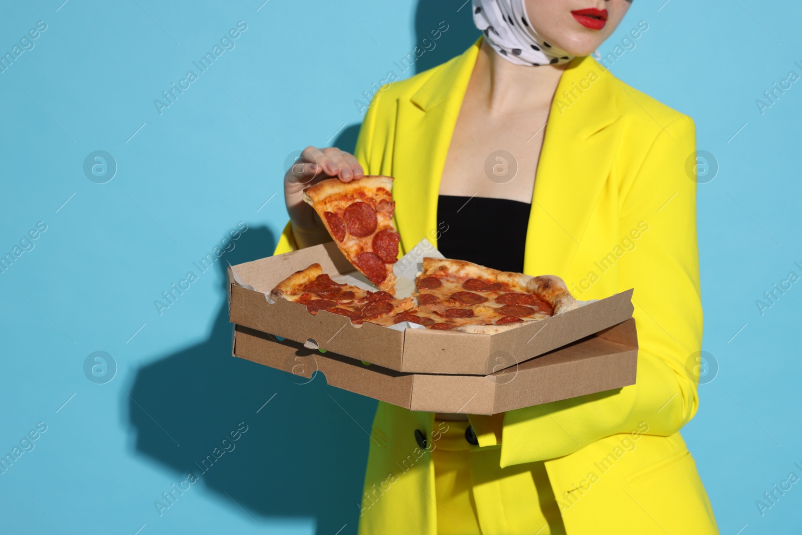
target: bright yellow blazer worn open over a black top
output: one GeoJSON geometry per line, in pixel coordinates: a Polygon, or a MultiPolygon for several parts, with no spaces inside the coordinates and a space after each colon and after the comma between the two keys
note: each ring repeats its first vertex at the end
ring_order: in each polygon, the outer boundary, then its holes
{"type": "MultiPolygon", "coordinates": [[[[367,110],[355,156],[367,174],[395,177],[405,251],[423,237],[436,245],[446,228],[436,221],[439,181],[480,41],[382,87],[367,110]]],[[[505,507],[537,506],[543,489],[525,466],[536,461],[545,461],[569,535],[718,533],[679,435],[698,406],[694,353],[702,341],[694,151],[689,117],[592,58],[574,59],[562,75],[537,167],[524,271],[560,276],[579,299],[634,288],[638,379],[618,391],[470,417],[485,452],[472,466],[485,535],[540,529],[504,520],[505,507]]],[[[276,253],[294,248],[288,225],[276,253]]],[[[432,413],[379,403],[360,533],[435,533],[431,453],[415,440],[420,430],[436,448],[433,424],[432,413]]]]}

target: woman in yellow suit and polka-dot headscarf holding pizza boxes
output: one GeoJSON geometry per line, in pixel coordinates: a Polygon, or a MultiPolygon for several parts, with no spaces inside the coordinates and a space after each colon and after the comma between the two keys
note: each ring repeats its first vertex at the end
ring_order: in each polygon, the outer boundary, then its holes
{"type": "Polygon", "coordinates": [[[481,39],[383,87],[354,156],[310,147],[287,172],[276,253],[330,239],[303,188],[381,174],[404,251],[427,237],[580,299],[635,289],[633,386],[467,421],[379,403],[360,533],[718,533],[679,434],[702,336],[694,124],[589,57],[628,7],[473,0],[481,39]]]}

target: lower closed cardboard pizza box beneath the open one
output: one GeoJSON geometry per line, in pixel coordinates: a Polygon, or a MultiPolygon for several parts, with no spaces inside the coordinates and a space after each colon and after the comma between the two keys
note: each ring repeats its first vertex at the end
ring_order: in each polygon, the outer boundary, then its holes
{"type": "Polygon", "coordinates": [[[235,357],[393,403],[412,411],[492,415],[635,383],[638,336],[634,319],[490,375],[403,373],[331,351],[235,326],[235,357]]]}

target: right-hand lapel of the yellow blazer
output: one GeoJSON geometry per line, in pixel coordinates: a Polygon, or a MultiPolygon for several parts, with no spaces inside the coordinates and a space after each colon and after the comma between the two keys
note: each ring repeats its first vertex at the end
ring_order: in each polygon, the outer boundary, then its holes
{"type": "Polygon", "coordinates": [[[565,278],[602,192],[621,136],[615,80],[574,59],[557,86],[537,165],[524,270],[565,278]]]}

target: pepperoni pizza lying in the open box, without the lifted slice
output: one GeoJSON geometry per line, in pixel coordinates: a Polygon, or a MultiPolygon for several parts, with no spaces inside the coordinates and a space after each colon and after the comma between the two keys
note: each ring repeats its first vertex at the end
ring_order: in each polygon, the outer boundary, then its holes
{"type": "Polygon", "coordinates": [[[331,280],[319,264],[280,282],[271,292],[306,306],[310,314],[328,310],[362,322],[392,326],[412,322],[434,330],[492,334],[549,318],[577,307],[561,278],[492,270],[468,261],[423,258],[415,280],[418,306],[331,280]]]}

